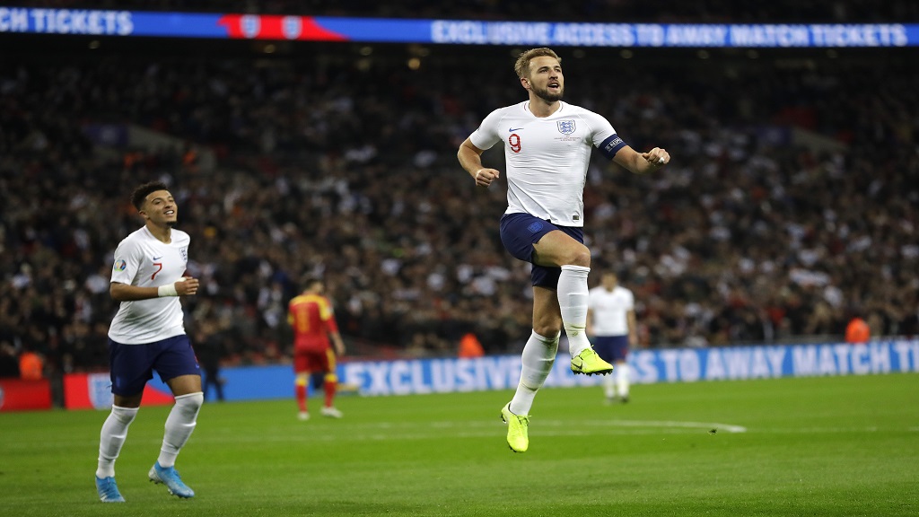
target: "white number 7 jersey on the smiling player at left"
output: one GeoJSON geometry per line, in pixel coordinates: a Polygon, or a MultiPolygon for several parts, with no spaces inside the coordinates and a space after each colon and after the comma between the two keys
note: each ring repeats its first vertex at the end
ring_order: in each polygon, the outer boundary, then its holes
{"type": "MultiPolygon", "coordinates": [[[[190,242],[187,233],[174,228],[172,242],[165,244],[143,226],[115,249],[111,281],[139,287],[174,283],[185,273],[190,242]]],[[[178,296],[121,302],[108,337],[122,344],[153,343],[185,334],[183,320],[178,296]]]]}

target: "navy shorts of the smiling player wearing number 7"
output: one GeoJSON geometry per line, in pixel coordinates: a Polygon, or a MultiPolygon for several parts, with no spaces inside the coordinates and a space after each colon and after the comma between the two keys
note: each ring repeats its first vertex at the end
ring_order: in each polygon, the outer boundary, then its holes
{"type": "Polygon", "coordinates": [[[153,379],[153,370],[164,383],[179,375],[200,375],[188,336],[174,336],[142,345],[123,345],[108,339],[108,361],[111,365],[112,393],[134,396],[153,379]]]}

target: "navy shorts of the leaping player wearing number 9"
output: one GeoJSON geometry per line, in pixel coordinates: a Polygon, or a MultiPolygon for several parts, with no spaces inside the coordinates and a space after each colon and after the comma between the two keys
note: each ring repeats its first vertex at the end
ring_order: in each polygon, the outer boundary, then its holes
{"type": "MultiPolygon", "coordinates": [[[[584,244],[584,228],[574,226],[556,226],[545,219],[539,219],[528,213],[505,213],[501,217],[501,243],[515,259],[533,263],[533,245],[542,236],[553,230],[561,230],[567,236],[584,244]]],[[[549,268],[533,264],[530,277],[533,285],[555,289],[559,284],[562,268],[549,268]]]]}

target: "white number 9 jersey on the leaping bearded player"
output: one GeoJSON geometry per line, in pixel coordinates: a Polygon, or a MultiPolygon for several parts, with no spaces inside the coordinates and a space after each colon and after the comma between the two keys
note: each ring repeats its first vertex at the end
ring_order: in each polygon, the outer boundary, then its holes
{"type": "Polygon", "coordinates": [[[609,121],[593,111],[561,102],[555,113],[540,118],[530,112],[529,101],[492,111],[470,141],[479,149],[505,144],[505,213],[577,227],[584,226],[591,151],[604,144],[615,155],[624,145],[609,121]]]}

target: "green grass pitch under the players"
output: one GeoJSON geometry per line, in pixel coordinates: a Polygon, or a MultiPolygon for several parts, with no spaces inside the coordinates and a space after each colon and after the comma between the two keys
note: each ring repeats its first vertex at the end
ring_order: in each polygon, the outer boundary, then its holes
{"type": "MultiPolygon", "coordinates": [[[[291,388],[292,391],[292,388],[291,388]]],[[[510,391],[342,396],[340,420],[292,400],[206,404],[176,467],[146,473],[168,408],[142,408],[96,499],[104,411],[0,414],[0,515],[919,515],[919,375],[635,385],[539,393],[512,453],[510,391]]]]}

